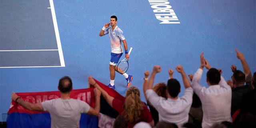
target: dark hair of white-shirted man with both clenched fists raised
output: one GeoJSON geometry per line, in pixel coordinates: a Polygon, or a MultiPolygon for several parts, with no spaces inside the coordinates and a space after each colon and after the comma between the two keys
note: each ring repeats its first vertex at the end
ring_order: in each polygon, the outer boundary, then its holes
{"type": "Polygon", "coordinates": [[[176,79],[170,79],[167,82],[167,90],[172,97],[178,96],[180,93],[180,82],[176,79]]]}

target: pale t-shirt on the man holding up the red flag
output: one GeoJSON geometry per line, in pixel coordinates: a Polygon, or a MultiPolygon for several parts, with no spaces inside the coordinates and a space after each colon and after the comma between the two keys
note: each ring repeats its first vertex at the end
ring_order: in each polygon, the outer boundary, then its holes
{"type": "Polygon", "coordinates": [[[81,113],[88,113],[90,106],[78,99],[53,99],[42,102],[44,111],[51,116],[51,128],[79,128],[81,113]]]}

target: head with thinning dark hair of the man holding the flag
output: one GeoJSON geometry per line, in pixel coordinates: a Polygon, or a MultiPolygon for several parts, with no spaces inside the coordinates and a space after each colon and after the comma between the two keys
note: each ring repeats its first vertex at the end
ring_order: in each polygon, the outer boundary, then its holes
{"type": "Polygon", "coordinates": [[[68,76],[64,76],[60,78],[59,86],[58,86],[60,92],[67,93],[72,90],[72,80],[68,76]]]}

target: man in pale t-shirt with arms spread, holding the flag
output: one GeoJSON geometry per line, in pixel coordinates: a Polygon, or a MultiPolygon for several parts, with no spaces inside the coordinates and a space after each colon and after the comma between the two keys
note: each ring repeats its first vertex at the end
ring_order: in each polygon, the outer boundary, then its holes
{"type": "Polygon", "coordinates": [[[58,89],[60,98],[46,100],[42,103],[32,104],[22,100],[16,93],[12,93],[12,100],[31,111],[48,111],[51,117],[51,128],[79,128],[82,113],[98,116],[100,112],[100,90],[94,89],[96,98],[95,107],[82,100],[70,98],[72,80],[68,76],[60,79],[58,89]]]}

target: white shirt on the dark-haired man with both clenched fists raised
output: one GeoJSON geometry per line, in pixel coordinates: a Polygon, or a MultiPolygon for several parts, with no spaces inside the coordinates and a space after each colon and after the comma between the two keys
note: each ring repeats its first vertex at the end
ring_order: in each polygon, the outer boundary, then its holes
{"type": "Polygon", "coordinates": [[[175,123],[179,128],[188,122],[188,113],[192,104],[193,89],[186,88],[184,95],[177,100],[158,96],[152,89],[146,90],[149,102],[156,108],[159,121],[175,123]]]}

